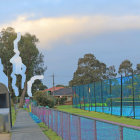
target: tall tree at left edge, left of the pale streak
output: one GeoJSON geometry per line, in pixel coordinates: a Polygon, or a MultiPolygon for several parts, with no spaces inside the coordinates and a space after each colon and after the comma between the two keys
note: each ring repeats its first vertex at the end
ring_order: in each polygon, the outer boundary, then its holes
{"type": "Polygon", "coordinates": [[[0,32],[0,58],[2,60],[2,64],[4,66],[4,73],[8,77],[8,88],[12,96],[14,96],[14,92],[12,89],[12,64],[10,63],[10,59],[14,56],[14,44],[13,41],[16,39],[16,32],[13,28],[8,27],[6,29],[2,29],[0,32]]]}

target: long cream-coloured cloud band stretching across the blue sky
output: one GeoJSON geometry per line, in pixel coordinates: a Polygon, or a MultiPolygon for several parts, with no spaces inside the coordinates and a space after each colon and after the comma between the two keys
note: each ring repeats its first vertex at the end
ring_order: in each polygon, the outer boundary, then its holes
{"type": "Polygon", "coordinates": [[[49,49],[52,43],[62,40],[71,43],[76,36],[98,35],[130,29],[140,29],[140,16],[83,16],[30,19],[19,16],[0,27],[11,26],[17,32],[30,32],[40,40],[40,47],[49,49]]]}

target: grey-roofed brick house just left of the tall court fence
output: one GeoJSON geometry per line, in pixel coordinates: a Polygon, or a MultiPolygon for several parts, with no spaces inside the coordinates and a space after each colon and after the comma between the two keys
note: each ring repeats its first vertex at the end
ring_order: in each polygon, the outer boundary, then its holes
{"type": "Polygon", "coordinates": [[[55,98],[66,97],[65,104],[67,104],[67,105],[71,105],[72,104],[72,97],[73,97],[72,88],[61,88],[59,90],[55,90],[53,92],[53,95],[55,96],[55,98]]]}

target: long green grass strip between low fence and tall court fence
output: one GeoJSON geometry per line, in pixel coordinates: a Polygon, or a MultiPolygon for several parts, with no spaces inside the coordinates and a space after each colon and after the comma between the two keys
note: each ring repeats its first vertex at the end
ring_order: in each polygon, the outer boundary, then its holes
{"type": "Polygon", "coordinates": [[[112,121],[112,122],[140,127],[140,120],[131,119],[131,118],[127,118],[127,117],[119,117],[119,116],[100,113],[100,112],[72,108],[72,105],[57,106],[57,109],[61,110],[61,111],[69,112],[69,113],[74,113],[74,114],[79,114],[79,115],[83,115],[83,116],[89,116],[89,117],[93,117],[93,118],[99,118],[99,119],[104,119],[104,120],[108,120],[108,121],[112,121]]]}

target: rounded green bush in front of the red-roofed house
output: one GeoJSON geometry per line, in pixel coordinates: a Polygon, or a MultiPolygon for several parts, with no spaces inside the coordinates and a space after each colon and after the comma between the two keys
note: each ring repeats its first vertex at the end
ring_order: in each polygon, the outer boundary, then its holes
{"type": "Polygon", "coordinates": [[[33,99],[40,106],[49,106],[50,108],[52,108],[55,105],[55,98],[51,95],[48,95],[46,92],[35,92],[33,99]]]}

